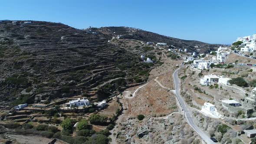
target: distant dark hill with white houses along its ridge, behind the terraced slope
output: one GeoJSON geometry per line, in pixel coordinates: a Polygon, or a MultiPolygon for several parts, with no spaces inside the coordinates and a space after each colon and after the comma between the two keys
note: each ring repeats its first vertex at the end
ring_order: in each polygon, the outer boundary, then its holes
{"type": "Polygon", "coordinates": [[[144,42],[153,42],[153,43],[167,43],[167,45],[174,46],[175,48],[185,49],[188,51],[194,52],[197,49],[200,49],[200,52],[210,52],[215,50],[220,44],[209,44],[203,43],[196,40],[184,40],[177,39],[169,36],[163,36],[157,33],[152,33],[144,31],[142,29],[130,28],[130,27],[101,27],[101,28],[89,28],[85,31],[96,32],[102,34],[102,36],[112,39],[113,36],[122,35],[123,39],[136,39],[144,42]],[[197,47],[195,47],[197,46],[197,47]]]}

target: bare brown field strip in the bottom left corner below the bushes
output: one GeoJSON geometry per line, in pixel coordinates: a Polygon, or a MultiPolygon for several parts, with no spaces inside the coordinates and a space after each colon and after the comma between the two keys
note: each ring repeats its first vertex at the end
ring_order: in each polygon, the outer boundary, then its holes
{"type": "MultiPolygon", "coordinates": [[[[11,139],[16,139],[20,144],[48,144],[53,138],[46,138],[33,135],[7,134],[11,139]]],[[[55,144],[67,144],[62,141],[56,141],[55,144]]]]}

